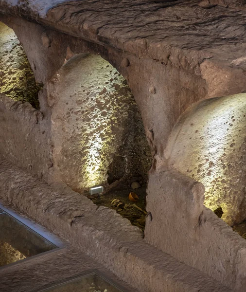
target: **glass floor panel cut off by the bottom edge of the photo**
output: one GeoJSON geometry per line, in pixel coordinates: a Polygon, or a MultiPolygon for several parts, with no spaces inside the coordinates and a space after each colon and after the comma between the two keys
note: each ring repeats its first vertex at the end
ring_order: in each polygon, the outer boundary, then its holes
{"type": "Polygon", "coordinates": [[[39,292],[124,292],[111,281],[97,273],[77,277],[39,292]]]}

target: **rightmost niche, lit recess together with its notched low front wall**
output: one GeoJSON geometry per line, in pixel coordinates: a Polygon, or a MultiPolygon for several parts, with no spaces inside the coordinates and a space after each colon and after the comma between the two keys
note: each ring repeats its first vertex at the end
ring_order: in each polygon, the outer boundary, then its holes
{"type": "Polygon", "coordinates": [[[246,94],[206,99],[181,116],[149,174],[144,240],[245,292],[246,94]],[[222,218],[212,211],[221,207],[222,218]],[[226,224],[224,221],[228,224],[226,224]]]}

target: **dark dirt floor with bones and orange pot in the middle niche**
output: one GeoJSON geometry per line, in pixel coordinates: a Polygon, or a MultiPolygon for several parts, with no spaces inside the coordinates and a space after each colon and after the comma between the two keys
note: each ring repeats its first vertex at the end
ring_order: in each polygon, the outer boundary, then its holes
{"type": "Polygon", "coordinates": [[[146,217],[146,187],[132,189],[128,186],[118,186],[109,192],[91,199],[96,205],[104,205],[115,210],[122,217],[127,218],[133,225],[138,226],[144,231],[146,217]],[[138,195],[137,201],[129,200],[129,193],[134,192],[138,195]],[[115,200],[115,199],[118,199],[115,200]]]}

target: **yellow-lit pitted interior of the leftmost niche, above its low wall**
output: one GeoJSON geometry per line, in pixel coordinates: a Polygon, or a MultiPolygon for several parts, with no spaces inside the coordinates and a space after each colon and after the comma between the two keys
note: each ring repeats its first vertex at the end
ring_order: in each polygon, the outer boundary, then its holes
{"type": "Polygon", "coordinates": [[[0,93],[39,108],[38,91],[27,56],[14,31],[0,22],[0,93]]]}

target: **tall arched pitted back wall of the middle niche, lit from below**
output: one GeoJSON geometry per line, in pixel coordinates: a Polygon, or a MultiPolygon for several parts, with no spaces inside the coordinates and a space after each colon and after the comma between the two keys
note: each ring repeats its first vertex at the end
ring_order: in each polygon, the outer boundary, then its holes
{"type": "Polygon", "coordinates": [[[151,165],[141,115],[123,76],[100,55],[71,57],[47,86],[53,175],[83,192],[143,184],[151,165]]]}

